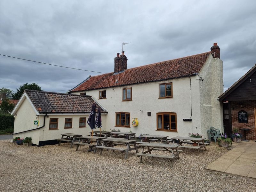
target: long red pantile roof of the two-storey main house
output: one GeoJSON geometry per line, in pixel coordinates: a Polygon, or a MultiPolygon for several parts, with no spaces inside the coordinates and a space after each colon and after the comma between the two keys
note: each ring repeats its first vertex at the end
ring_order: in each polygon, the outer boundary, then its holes
{"type": "Polygon", "coordinates": [[[198,55],[126,69],[124,72],[117,74],[112,72],[92,76],[70,92],[162,81],[189,75],[192,76],[194,73],[200,71],[210,54],[211,52],[205,52],[198,55]],[[116,80],[118,83],[116,83],[116,80]]]}

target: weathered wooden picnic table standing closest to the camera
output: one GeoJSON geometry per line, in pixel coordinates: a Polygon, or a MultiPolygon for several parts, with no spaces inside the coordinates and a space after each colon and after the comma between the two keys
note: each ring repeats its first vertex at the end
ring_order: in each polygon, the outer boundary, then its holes
{"type": "Polygon", "coordinates": [[[177,144],[167,144],[167,143],[148,143],[144,142],[141,143],[140,146],[142,147],[142,152],[137,153],[136,155],[140,157],[140,163],[142,162],[142,156],[150,156],[150,157],[159,157],[159,158],[167,158],[171,160],[171,167],[172,167],[172,162],[173,159],[177,156],[178,159],[180,159],[180,152],[178,151],[177,148],[180,145],[177,144]],[[144,148],[147,147],[148,150],[144,151],[144,148]],[[154,150],[155,148],[161,149],[162,151],[168,151],[171,153],[171,155],[156,155],[156,154],[151,154],[151,151],[154,150]],[[149,154],[148,154],[149,153],[149,154]]]}

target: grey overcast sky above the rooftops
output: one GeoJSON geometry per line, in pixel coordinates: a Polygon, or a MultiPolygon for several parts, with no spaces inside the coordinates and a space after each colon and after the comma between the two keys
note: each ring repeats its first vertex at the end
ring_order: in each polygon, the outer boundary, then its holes
{"type": "MultiPolygon", "coordinates": [[[[256,63],[256,1],[0,1],[0,54],[99,72],[128,68],[220,46],[224,91],[256,63]]],[[[37,83],[67,92],[89,75],[0,56],[0,88],[37,83]],[[12,83],[11,83],[12,82],[12,83]]]]}

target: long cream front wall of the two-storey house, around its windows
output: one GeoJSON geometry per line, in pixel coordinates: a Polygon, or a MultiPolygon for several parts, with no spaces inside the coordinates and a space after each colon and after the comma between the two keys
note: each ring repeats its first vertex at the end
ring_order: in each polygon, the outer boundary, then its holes
{"type": "MultiPolygon", "coordinates": [[[[108,110],[106,121],[103,121],[103,127],[110,131],[120,129],[124,132],[188,136],[190,132],[201,133],[201,113],[200,113],[200,93],[197,76],[191,77],[192,82],[192,122],[184,122],[183,118],[190,118],[190,80],[189,77],[172,79],[155,83],[135,84],[131,86],[113,87],[107,90],[107,99],[99,99],[99,91],[86,91],[86,95],[92,95],[100,105],[108,110]],[[172,82],[173,98],[159,98],[159,84],[172,82]],[[132,101],[122,101],[122,89],[132,87],[132,101]],[[143,111],[143,113],[140,112],[143,111]],[[147,112],[151,116],[147,116],[147,112]],[[115,127],[116,112],[129,112],[132,118],[139,118],[139,125],[130,128],[115,127]],[[158,112],[175,112],[177,113],[177,130],[178,132],[156,131],[156,113],[158,112]]],[[[84,91],[83,91],[84,92],[84,91]]],[[[76,92],[74,94],[79,94],[76,92]]],[[[131,124],[131,123],[130,123],[131,124]]]]}

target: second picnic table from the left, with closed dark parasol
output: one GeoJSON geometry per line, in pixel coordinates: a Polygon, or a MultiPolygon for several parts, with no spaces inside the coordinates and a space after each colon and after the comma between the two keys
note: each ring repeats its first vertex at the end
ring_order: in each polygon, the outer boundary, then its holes
{"type": "Polygon", "coordinates": [[[106,139],[106,137],[97,137],[97,136],[82,136],[82,137],[77,137],[79,139],[78,142],[74,142],[74,145],[76,146],[76,151],[78,150],[80,145],[87,145],[89,146],[89,148],[95,147],[94,149],[94,153],[96,153],[96,146],[98,146],[100,144],[100,140],[102,139],[106,139]],[[91,140],[96,140],[96,144],[92,143],[91,140]]]}

